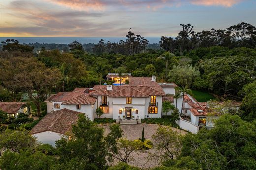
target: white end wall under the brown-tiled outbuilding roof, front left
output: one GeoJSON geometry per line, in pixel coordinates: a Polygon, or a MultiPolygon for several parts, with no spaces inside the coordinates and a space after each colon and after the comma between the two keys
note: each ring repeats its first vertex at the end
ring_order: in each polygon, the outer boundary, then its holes
{"type": "Polygon", "coordinates": [[[63,134],[59,134],[52,131],[41,132],[37,134],[33,134],[32,136],[36,137],[37,140],[43,144],[50,144],[55,146],[55,141],[60,140],[63,134]]]}

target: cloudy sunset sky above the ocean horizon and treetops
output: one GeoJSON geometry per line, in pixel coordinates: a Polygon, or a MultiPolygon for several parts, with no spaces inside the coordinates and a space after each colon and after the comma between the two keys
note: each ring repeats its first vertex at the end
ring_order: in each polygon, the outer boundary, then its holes
{"type": "Polygon", "coordinates": [[[0,37],[176,36],[256,26],[256,0],[0,0],[0,37]]]}

